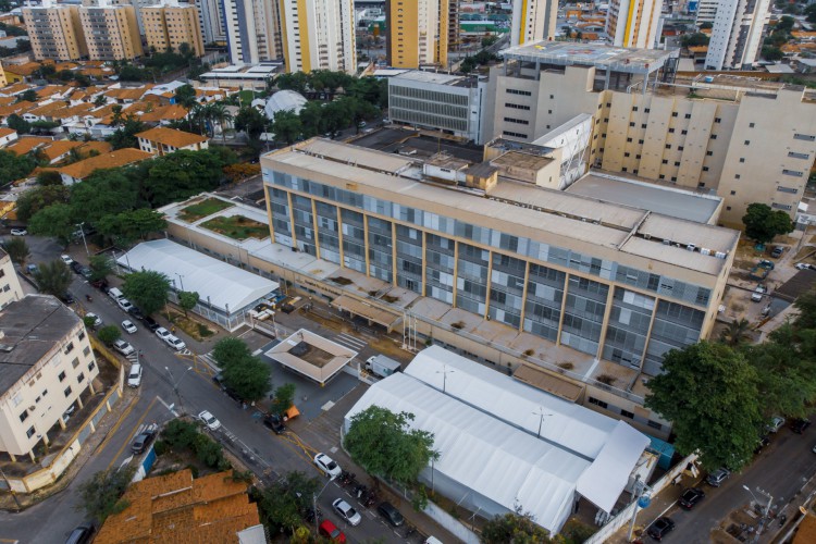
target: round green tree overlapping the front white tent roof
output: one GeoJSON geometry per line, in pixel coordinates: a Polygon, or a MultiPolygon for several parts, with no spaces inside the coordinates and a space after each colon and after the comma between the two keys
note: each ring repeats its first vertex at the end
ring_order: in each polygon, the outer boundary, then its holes
{"type": "Polygon", "coordinates": [[[344,445],[369,473],[413,482],[438,454],[433,450],[433,433],[410,429],[411,420],[412,413],[370,406],[351,418],[344,445]]]}

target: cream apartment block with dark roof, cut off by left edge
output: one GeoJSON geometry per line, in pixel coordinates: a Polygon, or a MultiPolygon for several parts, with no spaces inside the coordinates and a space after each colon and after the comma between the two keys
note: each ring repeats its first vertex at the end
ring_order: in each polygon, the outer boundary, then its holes
{"type": "Polygon", "coordinates": [[[64,413],[95,394],[99,374],[82,318],[57,298],[28,295],[0,311],[0,450],[15,460],[49,444],[64,413]],[[87,398],[88,395],[86,395],[87,398]]]}

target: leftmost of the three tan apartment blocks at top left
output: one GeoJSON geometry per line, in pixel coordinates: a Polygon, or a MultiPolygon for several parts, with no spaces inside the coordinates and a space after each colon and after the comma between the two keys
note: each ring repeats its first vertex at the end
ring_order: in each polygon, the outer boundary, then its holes
{"type": "Polygon", "coordinates": [[[88,54],[78,5],[46,1],[23,8],[23,20],[35,59],[73,61],[88,54]]]}

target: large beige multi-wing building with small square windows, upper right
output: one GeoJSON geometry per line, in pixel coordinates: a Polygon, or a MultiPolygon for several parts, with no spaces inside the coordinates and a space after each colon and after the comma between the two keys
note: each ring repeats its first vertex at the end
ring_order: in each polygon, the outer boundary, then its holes
{"type": "MultiPolygon", "coordinates": [[[[695,81],[691,89],[678,82],[643,91],[640,75],[615,72],[635,70],[643,51],[632,51],[628,62],[581,66],[576,55],[570,65],[566,58],[556,65],[553,54],[545,62],[546,50],[532,49],[506,51],[509,65],[491,71],[484,96],[495,103],[485,106],[493,112],[484,123],[487,134],[533,141],[591,114],[590,162],[596,168],[716,193],[725,200],[720,221],[728,225],[741,225],[752,202],[795,215],[816,157],[812,90],[717,76],[695,81]]],[[[640,62],[657,71],[647,78],[659,79],[670,59],[652,54],[640,62]]]]}

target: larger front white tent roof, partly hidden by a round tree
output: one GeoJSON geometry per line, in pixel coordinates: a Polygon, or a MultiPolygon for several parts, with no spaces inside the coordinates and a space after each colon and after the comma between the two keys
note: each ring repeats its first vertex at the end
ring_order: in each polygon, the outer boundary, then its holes
{"type": "Polygon", "coordinates": [[[557,533],[572,507],[577,482],[590,461],[520,431],[403,373],[372,385],[346,415],[369,406],[413,413],[415,429],[434,435],[437,474],[557,533]]]}

